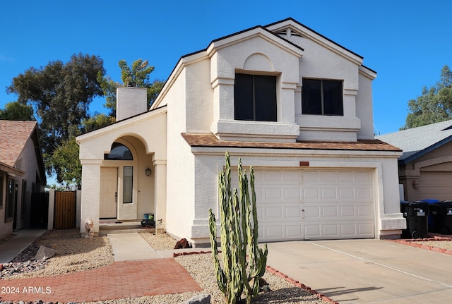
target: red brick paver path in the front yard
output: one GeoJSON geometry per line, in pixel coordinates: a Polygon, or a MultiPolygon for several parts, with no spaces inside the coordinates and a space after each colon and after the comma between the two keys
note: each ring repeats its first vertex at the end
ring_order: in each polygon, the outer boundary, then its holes
{"type": "Polygon", "coordinates": [[[64,303],[202,290],[172,258],[114,262],[85,272],[0,280],[0,288],[0,300],[64,303]]]}

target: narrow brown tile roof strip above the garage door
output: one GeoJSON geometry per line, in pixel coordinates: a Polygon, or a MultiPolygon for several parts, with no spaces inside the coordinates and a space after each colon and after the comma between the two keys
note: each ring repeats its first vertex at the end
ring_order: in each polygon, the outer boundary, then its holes
{"type": "Polygon", "coordinates": [[[242,147],[270,149],[300,149],[300,150],[361,150],[361,151],[393,151],[402,152],[398,147],[381,140],[358,140],[357,142],[244,142],[219,140],[213,134],[181,133],[191,147],[242,147]]]}

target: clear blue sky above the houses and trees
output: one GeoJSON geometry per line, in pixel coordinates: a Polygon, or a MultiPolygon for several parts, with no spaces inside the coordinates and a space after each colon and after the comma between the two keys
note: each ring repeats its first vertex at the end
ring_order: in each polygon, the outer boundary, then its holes
{"type": "MultiPolygon", "coordinates": [[[[120,81],[118,61],[148,59],[166,80],[181,56],[213,40],[288,17],[364,57],[373,82],[374,129],[405,124],[408,100],[452,67],[452,1],[6,1],[0,11],[0,108],[11,80],[30,67],[100,56],[120,81]]],[[[104,100],[91,111],[106,112],[104,100]]]]}

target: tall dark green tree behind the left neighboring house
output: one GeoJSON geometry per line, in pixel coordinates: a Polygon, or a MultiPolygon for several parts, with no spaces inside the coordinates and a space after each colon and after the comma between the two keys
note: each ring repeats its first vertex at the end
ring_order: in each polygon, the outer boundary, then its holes
{"type": "Polygon", "coordinates": [[[51,61],[44,68],[29,68],[7,87],[8,93],[18,95],[20,104],[35,109],[44,158],[69,140],[70,126],[80,127],[89,117],[90,102],[102,96],[98,74],[105,74],[100,57],[74,54],[66,63],[51,61]]]}

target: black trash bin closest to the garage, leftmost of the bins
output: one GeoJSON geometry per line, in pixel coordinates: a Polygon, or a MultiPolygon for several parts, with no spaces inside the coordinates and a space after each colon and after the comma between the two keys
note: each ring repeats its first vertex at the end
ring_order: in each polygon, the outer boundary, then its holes
{"type": "Polygon", "coordinates": [[[427,238],[429,235],[427,217],[429,215],[428,202],[400,202],[400,212],[407,220],[407,229],[402,236],[407,238],[427,238]]]}

